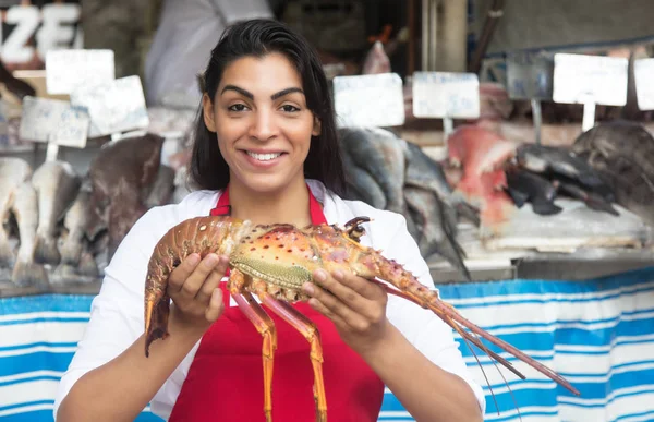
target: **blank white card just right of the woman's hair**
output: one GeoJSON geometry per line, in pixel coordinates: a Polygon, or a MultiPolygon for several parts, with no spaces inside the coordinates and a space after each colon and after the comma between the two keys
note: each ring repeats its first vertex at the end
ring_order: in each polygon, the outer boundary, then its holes
{"type": "Polygon", "coordinates": [[[336,76],[334,103],[339,128],[404,124],[402,79],[397,73],[336,76]]]}

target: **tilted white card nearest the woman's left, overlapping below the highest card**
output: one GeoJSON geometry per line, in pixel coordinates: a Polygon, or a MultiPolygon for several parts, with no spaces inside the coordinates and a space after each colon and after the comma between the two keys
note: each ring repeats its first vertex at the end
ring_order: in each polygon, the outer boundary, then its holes
{"type": "Polygon", "coordinates": [[[77,88],[71,93],[71,104],[87,110],[90,117],[89,137],[146,129],[149,125],[138,76],[77,88]]]}

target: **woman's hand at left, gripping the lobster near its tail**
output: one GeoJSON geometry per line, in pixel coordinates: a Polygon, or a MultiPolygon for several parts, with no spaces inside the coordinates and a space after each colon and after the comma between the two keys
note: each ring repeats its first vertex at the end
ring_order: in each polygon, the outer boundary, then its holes
{"type": "Polygon", "coordinates": [[[206,331],[225,310],[218,284],[227,268],[227,256],[211,253],[202,261],[196,253],[186,256],[168,279],[168,296],[173,301],[171,324],[206,331]]]}

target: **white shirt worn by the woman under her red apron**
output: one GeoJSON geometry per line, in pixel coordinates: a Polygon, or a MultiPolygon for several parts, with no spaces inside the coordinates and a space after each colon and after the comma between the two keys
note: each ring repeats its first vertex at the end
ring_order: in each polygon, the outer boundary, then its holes
{"type": "MultiPolygon", "coordinates": [[[[396,260],[422,284],[434,289],[429,268],[407,231],[403,216],[373,208],[363,202],[343,201],[314,180],[308,180],[307,184],[323,204],[329,224],[342,225],[358,216],[371,217],[373,221],[364,226],[366,233],[361,243],[382,250],[384,256],[396,260]]],[[[92,304],[90,321],[59,384],[55,415],[61,400],[80,377],[119,355],[143,334],[145,277],[156,243],[183,220],[209,215],[219,194],[197,191],[190,193],[180,204],[152,208],[130,230],[105,269],[102,287],[92,304]]],[[[233,299],[231,305],[235,305],[233,299]]],[[[448,325],[432,311],[392,294],[388,298],[387,317],[432,362],[468,382],[482,411],[485,410],[483,390],[472,379],[448,325]]],[[[164,419],[170,417],[198,346],[199,341],[156,394],[150,402],[153,413],[164,419]]]]}

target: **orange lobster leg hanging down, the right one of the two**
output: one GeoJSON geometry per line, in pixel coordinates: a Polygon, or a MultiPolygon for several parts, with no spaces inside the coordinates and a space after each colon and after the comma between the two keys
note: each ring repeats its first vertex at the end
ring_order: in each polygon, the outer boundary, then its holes
{"type": "Polygon", "coordinates": [[[314,399],[316,401],[316,421],[327,422],[327,397],[325,396],[325,382],[323,378],[323,345],[320,334],[315,324],[288,302],[272,298],[266,291],[257,291],[262,302],[277,315],[292,325],[306,338],[311,345],[311,362],[314,370],[314,399]]]}

